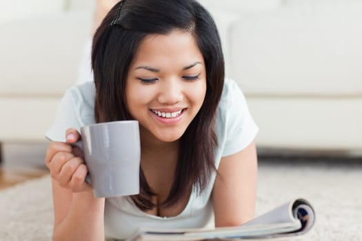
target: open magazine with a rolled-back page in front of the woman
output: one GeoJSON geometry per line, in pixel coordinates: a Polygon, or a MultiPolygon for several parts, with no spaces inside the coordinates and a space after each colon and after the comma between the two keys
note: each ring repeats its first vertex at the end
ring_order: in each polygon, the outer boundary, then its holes
{"type": "Polygon", "coordinates": [[[315,220],[314,209],[302,198],[272,209],[237,227],[215,229],[139,229],[126,241],[143,240],[258,240],[301,235],[315,220]]]}

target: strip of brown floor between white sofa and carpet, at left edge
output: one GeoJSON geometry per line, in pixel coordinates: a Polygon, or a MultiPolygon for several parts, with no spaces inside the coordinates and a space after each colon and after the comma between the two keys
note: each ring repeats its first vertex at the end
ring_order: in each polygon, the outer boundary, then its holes
{"type": "Polygon", "coordinates": [[[48,174],[44,165],[46,146],[46,143],[3,144],[0,189],[48,174]]]}

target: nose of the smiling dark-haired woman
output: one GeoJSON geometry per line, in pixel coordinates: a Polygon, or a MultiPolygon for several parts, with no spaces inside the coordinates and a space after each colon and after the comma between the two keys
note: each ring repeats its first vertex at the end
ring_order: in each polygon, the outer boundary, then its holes
{"type": "Polygon", "coordinates": [[[176,78],[162,81],[158,101],[162,104],[173,105],[183,100],[181,80],[176,78]]]}

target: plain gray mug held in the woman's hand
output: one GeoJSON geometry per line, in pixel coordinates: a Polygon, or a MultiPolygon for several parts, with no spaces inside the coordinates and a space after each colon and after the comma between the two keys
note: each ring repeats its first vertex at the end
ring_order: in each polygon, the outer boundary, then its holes
{"type": "Polygon", "coordinates": [[[141,144],[138,121],[113,121],[81,127],[81,140],[88,167],[87,182],[95,198],[139,193],[141,144]]]}

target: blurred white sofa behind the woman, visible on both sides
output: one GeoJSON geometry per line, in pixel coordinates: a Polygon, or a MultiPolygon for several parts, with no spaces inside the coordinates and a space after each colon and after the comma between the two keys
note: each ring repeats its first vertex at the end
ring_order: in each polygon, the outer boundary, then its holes
{"type": "MultiPolygon", "coordinates": [[[[45,141],[90,33],[91,1],[34,2],[0,18],[0,142],[45,141]],[[54,6],[37,12],[41,2],[54,6]]],[[[260,127],[258,147],[360,153],[362,1],[202,2],[260,127]]]]}

